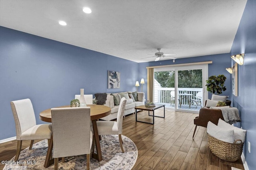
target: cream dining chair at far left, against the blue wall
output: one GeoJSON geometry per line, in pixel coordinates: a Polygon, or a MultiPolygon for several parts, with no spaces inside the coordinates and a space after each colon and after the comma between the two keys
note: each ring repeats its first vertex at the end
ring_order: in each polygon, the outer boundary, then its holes
{"type": "Polygon", "coordinates": [[[29,149],[32,149],[34,140],[49,139],[52,135],[52,124],[36,125],[34,108],[30,99],[22,99],[11,102],[12,113],[16,125],[17,152],[14,158],[18,160],[22,147],[22,141],[31,140],[29,149]]]}

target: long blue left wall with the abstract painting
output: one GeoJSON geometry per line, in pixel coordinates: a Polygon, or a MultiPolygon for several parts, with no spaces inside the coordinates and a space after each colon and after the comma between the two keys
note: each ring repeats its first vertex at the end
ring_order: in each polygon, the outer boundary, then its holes
{"type": "Polygon", "coordinates": [[[39,113],[69,105],[75,94],[135,91],[138,63],[0,27],[0,140],[16,136],[10,101],[30,98],[39,113]],[[108,70],[120,88],[107,89],[108,70]]]}

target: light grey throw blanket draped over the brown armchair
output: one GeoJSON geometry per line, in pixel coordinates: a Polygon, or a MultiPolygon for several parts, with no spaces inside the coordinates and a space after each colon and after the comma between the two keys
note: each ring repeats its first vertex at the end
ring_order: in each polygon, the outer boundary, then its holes
{"type": "Polygon", "coordinates": [[[220,109],[222,111],[224,121],[230,125],[241,121],[236,107],[210,107],[210,109],[220,109]]]}

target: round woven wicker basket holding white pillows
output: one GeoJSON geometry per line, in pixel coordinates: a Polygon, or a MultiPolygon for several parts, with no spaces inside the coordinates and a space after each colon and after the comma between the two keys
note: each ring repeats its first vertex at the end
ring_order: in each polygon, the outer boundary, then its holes
{"type": "Polygon", "coordinates": [[[243,151],[244,143],[227,143],[220,141],[208,134],[208,145],[213,154],[222,160],[234,162],[240,158],[243,151]]]}

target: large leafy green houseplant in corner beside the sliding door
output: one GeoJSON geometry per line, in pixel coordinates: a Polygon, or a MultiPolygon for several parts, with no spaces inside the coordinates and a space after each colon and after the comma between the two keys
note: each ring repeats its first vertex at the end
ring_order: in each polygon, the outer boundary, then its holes
{"type": "Polygon", "coordinates": [[[226,86],[224,86],[224,82],[226,77],[221,74],[218,76],[210,76],[208,80],[206,80],[207,91],[215,94],[222,94],[222,91],[227,90],[226,86]]]}

